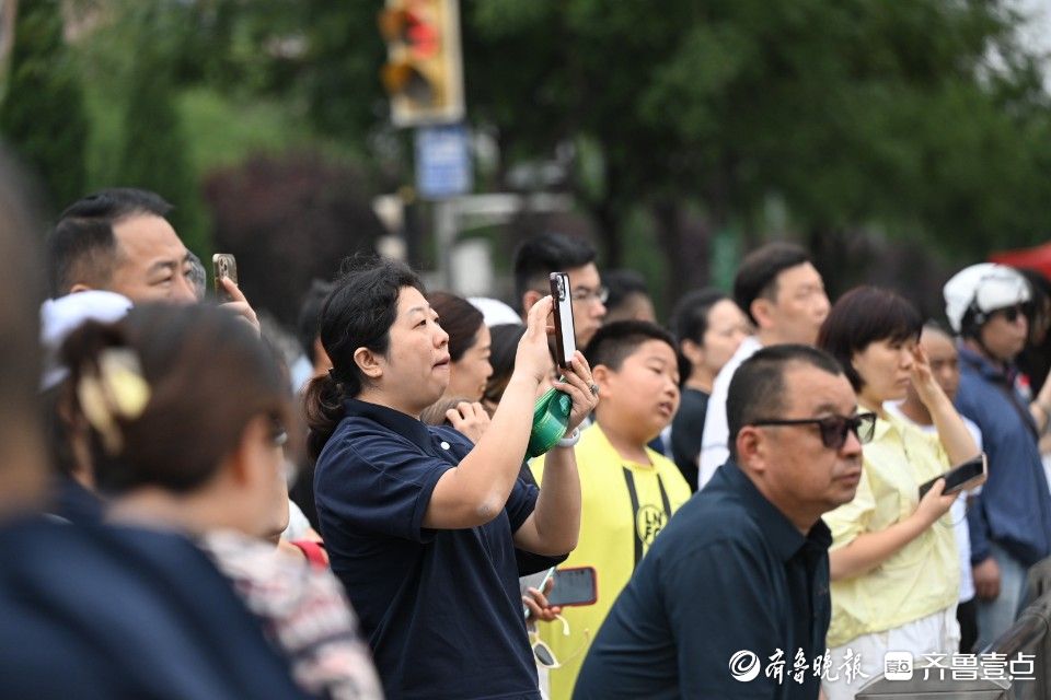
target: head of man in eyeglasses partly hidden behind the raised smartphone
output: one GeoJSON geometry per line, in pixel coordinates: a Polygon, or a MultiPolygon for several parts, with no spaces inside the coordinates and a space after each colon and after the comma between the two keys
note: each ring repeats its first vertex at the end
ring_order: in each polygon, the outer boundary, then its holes
{"type": "Polygon", "coordinates": [[[577,348],[588,347],[602,326],[610,293],[602,287],[594,265],[594,247],[576,236],[541,233],[530,236],[515,250],[515,294],[522,318],[541,298],[551,293],[548,276],[566,272],[573,299],[573,323],[577,348]]]}

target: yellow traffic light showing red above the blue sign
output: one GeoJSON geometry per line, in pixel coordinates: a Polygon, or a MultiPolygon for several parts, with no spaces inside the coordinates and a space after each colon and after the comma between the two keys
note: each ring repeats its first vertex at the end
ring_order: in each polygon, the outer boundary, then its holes
{"type": "Polygon", "coordinates": [[[458,0],[386,0],[379,25],[388,52],[380,78],[394,126],[463,120],[458,0]]]}

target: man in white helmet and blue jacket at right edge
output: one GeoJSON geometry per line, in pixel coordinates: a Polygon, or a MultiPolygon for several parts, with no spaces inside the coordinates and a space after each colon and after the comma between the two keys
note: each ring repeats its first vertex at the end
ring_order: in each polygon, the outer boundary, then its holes
{"type": "Polygon", "coordinates": [[[981,649],[1010,627],[1029,568],[1051,555],[1051,493],[1038,448],[1051,419],[1051,386],[1029,401],[1015,357],[1028,338],[1028,282],[992,262],[945,284],[946,316],[960,336],[956,406],[982,431],[989,479],[968,509],[981,649]]]}

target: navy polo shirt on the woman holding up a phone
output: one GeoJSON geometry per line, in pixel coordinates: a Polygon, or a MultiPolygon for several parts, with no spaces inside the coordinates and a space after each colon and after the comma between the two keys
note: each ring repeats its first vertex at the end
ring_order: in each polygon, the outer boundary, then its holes
{"type": "Polygon", "coordinates": [[[383,406],[345,407],[317,458],[317,517],[384,692],[539,698],[512,539],[536,487],[519,479],[504,511],[480,527],[425,528],[435,485],[473,444],[383,406]]]}

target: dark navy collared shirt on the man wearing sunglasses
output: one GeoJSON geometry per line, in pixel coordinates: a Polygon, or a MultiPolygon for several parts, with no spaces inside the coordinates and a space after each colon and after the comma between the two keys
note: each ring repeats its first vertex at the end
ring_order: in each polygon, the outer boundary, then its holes
{"type": "Polygon", "coordinates": [[[816,700],[813,660],[831,620],[821,521],[804,535],[734,462],[672,516],[613,604],[574,698],[816,700]],[[793,677],[797,654],[802,682],[793,677]],[[781,681],[767,677],[783,660],[781,681]],[[730,660],[753,661],[737,680],[730,660]],[[751,654],[752,656],[748,656],[751,654]]]}

